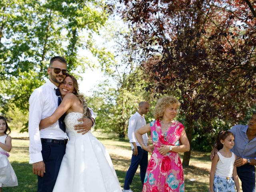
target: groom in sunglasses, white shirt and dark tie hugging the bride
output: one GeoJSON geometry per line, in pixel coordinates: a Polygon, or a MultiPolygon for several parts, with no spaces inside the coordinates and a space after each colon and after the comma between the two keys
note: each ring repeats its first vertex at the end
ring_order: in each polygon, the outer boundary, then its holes
{"type": "MultiPolygon", "coordinates": [[[[58,86],[68,73],[66,60],[60,56],[51,58],[47,70],[50,79],[35,89],[29,98],[28,133],[30,138],[29,163],[33,164],[33,173],[38,175],[38,192],[52,192],[60,164],[65,154],[68,136],[63,121],[59,120],[48,128],[39,130],[40,120],[51,116],[58,108],[58,86]]],[[[84,118],[84,123],[75,129],[83,134],[94,124],[92,119],[84,118]]]]}

